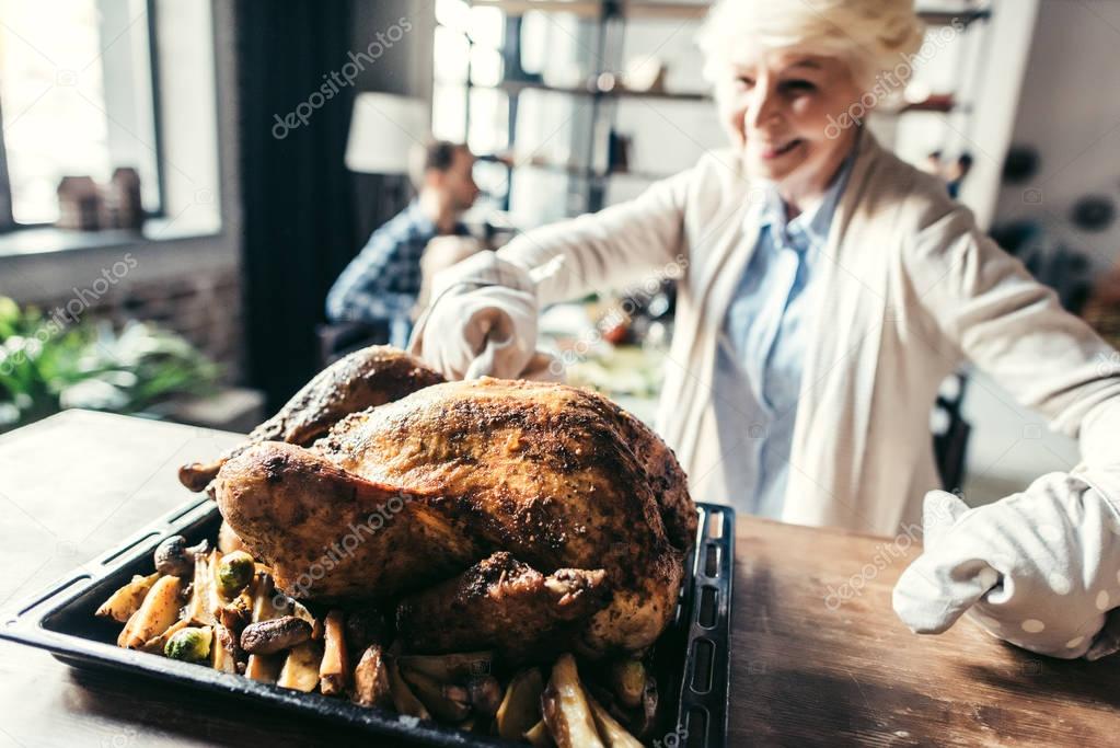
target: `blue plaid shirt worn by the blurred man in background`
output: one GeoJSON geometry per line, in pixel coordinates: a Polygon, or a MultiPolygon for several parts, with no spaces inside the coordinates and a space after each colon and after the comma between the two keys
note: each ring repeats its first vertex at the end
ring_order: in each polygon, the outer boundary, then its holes
{"type": "MultiPolygon", "coordinates": [[[[420,258],[437,235],[436,224],[412,200],[373,232],[327,293],[333,322],[408,322],[420,294],[420,258]]],[[[457,224],[455,233],[467,233],[457,224]]]]}

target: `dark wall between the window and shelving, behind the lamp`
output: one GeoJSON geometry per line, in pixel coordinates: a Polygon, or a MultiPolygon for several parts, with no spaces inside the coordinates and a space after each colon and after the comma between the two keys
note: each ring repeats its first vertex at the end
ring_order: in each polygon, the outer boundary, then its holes
{"type": "Polygon", "coordinates": [[[246,378],[276,410],[317,371],[327,290],[368,233],[358,208],[379,187],[344,165],[354,94],[430,82],[432,3],[237,0],[235,8],[246,378]],[[412,31],[327,99],[320,86],[349,53],[402,17],[412,31]],[[417,69],[413,60],[424,58],[428,69],[417,69]],[[296,119],[300,105],[306,122],[296,119]]]}

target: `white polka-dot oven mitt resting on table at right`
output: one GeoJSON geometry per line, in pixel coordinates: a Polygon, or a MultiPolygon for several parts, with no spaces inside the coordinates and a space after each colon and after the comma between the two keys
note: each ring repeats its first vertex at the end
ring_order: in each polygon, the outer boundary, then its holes
{"type": "Polygon", "coordinates": [[[903,572],[895,613],[917,634],[962,614],[1040,654],[1098,660],[1120,648],[1120,515],[1076,475],[1053,473],[1023,494],[970,509],[926,495],[925,550],[903,572]]]}

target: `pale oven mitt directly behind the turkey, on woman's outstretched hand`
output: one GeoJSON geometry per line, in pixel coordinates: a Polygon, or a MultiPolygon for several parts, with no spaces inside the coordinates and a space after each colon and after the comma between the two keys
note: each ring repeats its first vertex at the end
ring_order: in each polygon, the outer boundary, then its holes
{"type": "Polygon", "coordinates": [[[523,269],[479,252],[437,273],[431,293],[409,353],[447,378],[562,378],[560,362],[536,350],[536,293],[523,269]]]}

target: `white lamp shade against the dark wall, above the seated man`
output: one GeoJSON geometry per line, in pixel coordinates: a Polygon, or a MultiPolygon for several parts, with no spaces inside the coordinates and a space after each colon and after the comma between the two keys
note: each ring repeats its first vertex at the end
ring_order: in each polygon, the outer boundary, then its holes
{"type": "Polygon", "coordinates": [[[428,103],[384,93],[354,100],[346,168],[365,174],[407,174],[409,153],[428,137],[428,103]]]}

